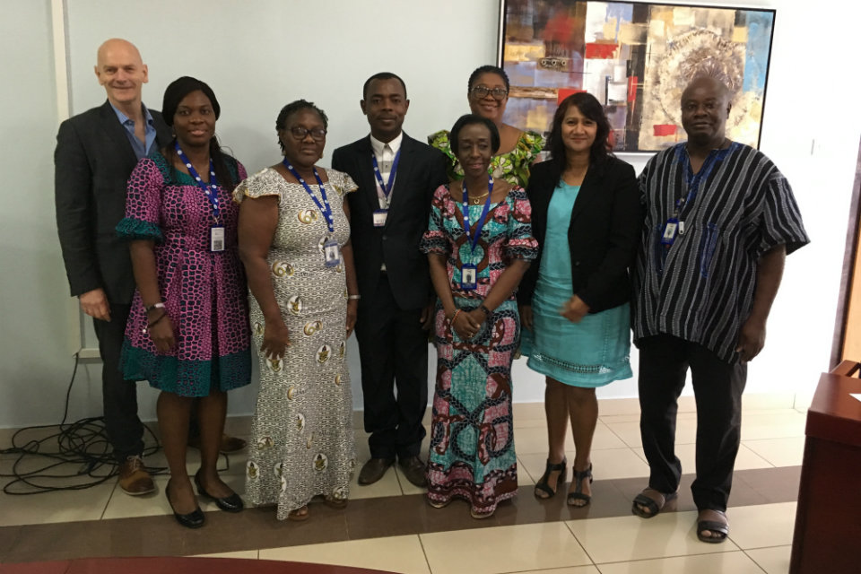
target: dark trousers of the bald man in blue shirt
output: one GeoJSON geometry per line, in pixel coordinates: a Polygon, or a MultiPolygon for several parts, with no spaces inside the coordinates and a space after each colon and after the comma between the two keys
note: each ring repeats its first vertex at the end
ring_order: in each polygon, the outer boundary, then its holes
{"type": "Polygon", "coordinates": [[[102,361],[101,395],[105,429],[118,462],[143,453],[143,423],[137,416],[137,385],[123,378],[119,365],[129,309],[131,305],[111,304],[110,321],[92,321],[99,339],[102,361]]]}

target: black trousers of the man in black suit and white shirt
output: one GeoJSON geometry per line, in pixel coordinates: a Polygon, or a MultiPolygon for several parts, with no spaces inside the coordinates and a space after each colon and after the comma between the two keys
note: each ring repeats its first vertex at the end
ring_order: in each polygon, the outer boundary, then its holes
{"type": "Polygon", "coordinates": [[[385,273],[373,296],[361,300],[356,340],[371,457],[415,457],[421,451],[428,405],[428,334],[421,317],[422,309],[397,306],[385,273]]]}

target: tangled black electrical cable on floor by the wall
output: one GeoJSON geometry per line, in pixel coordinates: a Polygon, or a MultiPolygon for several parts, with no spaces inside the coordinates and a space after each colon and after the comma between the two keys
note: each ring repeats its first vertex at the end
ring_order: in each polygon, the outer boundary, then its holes
{"type": "MultiPolygon", "coordinates": [[[[12,447],[0,449],[0,455],[18,455],[13,462],[12,470],[0,473],[0,478],[13,479],[4,485],[4,494],[28,495],[54,491],[81,491],[98,486],[117,476],[119,467],[105,431],[104,417],[88,417],[69,424],[65,422],[79,361],[79,353],[76,352],[72,378],[65,391],[63,421],[58,425],[46,424],[19,429],[12,436],[12,447]],[[37,436],[40,436],[41,431],[46,429],[57,429],[57,432],[40,439],[25,439],[33,432],[37,432],[37,436]],[[44,460],[40,460],[38,467],[30,468],[35,466],[30,464],[35,459],[44,460]],[[22,469],[25,464],[28,466],[26,471],[22,469]],[[65,472],[61,472],[60,467],[63,465],[74,465],[76,469],[72,471],[66,469],[65,472]],[[81,480],[69,484],[75,478],[81,480]]],[[[146,424],[143,425],[143,429],[152,439],[152,444],[143,449],[143,457],[147,457],[157,453],[161,449],[161,443],[146,424]]],[[[220,472],[230,468],[230,458],[226,455],[222,457],[227,467],[219,469],[220,472]]],[[[148,466],[147,470],[153,475],[168,474],[168,469],[165,467],[148,466]]]]}

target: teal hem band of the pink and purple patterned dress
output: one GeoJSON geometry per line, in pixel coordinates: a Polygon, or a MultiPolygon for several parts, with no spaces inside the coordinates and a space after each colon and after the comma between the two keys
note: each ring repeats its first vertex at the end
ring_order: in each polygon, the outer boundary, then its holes
{"type": "Polygon", "coordinates": [[[150,387],[178,396],[208,396],[213,380],[222,391],[251,382],[250,348],[231,352],[212,361],[179,360],[135,347],[123,341],[121,365],[126,380],[145,380],[150,387]]]}

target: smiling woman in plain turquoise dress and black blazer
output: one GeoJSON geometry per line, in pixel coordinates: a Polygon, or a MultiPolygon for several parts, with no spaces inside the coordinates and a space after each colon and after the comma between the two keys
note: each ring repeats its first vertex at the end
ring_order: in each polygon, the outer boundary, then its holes
{"type": "Polygon", "coordinates": [[[576,455],[568,504],[591,501],[596,388],[631,378],[631,283],[628,269],[642,213],[634,170],[607,152],[610,126],[587,93],[562,100],[553,117],[552,159],[535,165],[528,196],[539,265],[518,293],[522,352],[546,377],[549,443],[535,496],[552,497],[565,481],[568,421],[576,455]]]}

